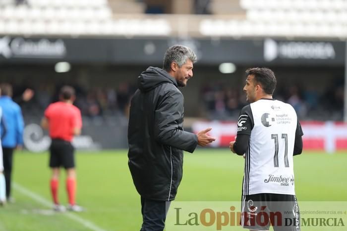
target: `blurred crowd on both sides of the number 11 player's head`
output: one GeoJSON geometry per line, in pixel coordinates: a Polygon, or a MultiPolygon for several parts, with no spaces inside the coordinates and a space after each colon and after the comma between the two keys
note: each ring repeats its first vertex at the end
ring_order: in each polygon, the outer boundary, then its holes
{"type": "MultiPolygon", "coordinates": [[[[223,84],[202,88],[205,117],[234,120],[247,104],[244,92],[223,84]]],[[[289,103],[301,120],[343,120],[344,83],[335,82],[322,93],[309,91],[300,85],[279,86],[274,98],[289,103]]]]}

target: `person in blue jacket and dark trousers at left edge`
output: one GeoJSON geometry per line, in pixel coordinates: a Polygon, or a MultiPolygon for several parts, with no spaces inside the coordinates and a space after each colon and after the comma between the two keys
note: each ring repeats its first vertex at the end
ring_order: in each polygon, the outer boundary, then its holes
{"type": "Polygon", "coordinates": [[[6,197],[8,202],[13,202],[11,196],[11,175],[13,165],[14,149],[21,149],[23,146],[24,120],[20,106],[12,100],[12,86],[1,84],[0,107],[2,116],[6,121],[7,133],[2,141],[3,168],[6,181],[6,197]]]}

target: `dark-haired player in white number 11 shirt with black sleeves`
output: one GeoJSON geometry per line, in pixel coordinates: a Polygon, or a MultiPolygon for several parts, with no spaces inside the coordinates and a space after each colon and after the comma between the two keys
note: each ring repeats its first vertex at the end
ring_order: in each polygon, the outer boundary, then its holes
{"type": "MultiPolygon", "coordinates": [[[[272,224],[275,231],[299,231],[294,190],[293,155],[302,151],[302,130],[293,107],[273,99],[275,74],[267,68],[246,70],[247,101],[237,122],[237,136],[230,149],[245,154],[241,225],[250,230],[269,230],[257,214],[282,212],[295,225],[272,224]],[[292,211],[289,215],[285,211],[292,211]],[[294,222],[293,222],[294,223],[294,222]]],[[[266,222],[266,221],[265,221],[266,222]]]]}

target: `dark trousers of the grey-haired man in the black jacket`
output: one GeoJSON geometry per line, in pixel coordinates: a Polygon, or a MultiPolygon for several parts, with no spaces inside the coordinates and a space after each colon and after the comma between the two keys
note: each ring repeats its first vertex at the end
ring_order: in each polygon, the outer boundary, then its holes
{"type": "Polygon", "coordinates": [[[163,231],[171,201],[155,201],[141,196],[142,227],[140,231],[163,231]]]}

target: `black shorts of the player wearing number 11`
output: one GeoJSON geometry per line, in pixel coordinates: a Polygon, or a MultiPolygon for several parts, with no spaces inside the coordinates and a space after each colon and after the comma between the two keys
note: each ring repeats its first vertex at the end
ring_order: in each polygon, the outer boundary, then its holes
{"type": "Polygon", "coordinates": [[[300,231],[300,211],[295,195],[259,193],[243,195],[240,225],[244,229],[300,231]]]}

